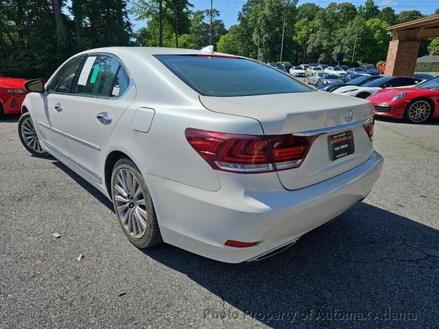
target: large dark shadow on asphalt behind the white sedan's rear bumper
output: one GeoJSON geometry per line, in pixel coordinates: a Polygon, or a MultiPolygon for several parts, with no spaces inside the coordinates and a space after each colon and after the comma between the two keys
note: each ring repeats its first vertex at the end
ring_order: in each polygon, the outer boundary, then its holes
{"type": "MultiPolygon", "coordinates": [[[[438,230],[360,202],[257,263],[170,245],[144,253],[272,328],[437,328],[438,245],[438,230]]],[[[219,307],[200,319],[223,315],[233,326],[237,314],[219,307]]]]}

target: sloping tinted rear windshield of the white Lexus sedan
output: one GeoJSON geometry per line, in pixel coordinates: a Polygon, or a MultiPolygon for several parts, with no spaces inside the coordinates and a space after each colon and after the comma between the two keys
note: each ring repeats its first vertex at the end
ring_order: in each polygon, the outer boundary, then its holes
{"type": "Polygon", "coordinates": [[[156,58],[193,90],[205,96],[231,97],[312,91],[305,84],[277,69],[244,58],[196,55],[157,55],[156,58]]]}

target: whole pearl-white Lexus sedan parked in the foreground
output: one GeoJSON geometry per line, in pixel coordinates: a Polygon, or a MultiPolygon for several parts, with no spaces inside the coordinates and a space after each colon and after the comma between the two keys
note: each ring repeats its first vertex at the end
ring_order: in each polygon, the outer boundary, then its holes
{"type": "Polygon", "coordinates": [[[211,47],[84,51],[25,87],[24,147],[111,199],[139,248],[265,258],[364,199],[383,164],[369,101],[211,47]]]}

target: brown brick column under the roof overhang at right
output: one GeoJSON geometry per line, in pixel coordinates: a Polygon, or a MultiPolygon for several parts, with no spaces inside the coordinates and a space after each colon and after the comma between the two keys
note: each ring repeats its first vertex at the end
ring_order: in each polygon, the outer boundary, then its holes
{"type": "Polygon", "coordinates": [[[418,59],[419,47],[419,41],[390,41],[384,75],[412,77],[418,59]]]}

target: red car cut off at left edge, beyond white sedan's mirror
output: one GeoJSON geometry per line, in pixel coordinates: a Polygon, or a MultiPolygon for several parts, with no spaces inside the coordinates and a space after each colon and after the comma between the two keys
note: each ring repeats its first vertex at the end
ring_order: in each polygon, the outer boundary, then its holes
{"type": "Polygon", "coordinates": [[[26,79],[0,77],[0,117],[4,114],[21,113],[21,103],[27,94],[25,82],[26,79]]]}

